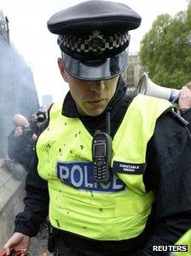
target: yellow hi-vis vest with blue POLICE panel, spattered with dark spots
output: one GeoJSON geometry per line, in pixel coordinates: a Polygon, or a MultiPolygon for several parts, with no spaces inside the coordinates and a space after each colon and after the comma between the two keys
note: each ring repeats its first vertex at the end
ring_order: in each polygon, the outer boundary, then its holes
{"type": "Polygon", "coordinates": [[[95,240],[140,235],[154,201],[142,181],[147,144],[157,118],[171,104],[141,94],[133,99],[113,138],[113,175],[107,184],[93,179],[91,134],[78,118],[62,116],[61,107],[52,106],[49,127],[37,143],[38,173],[49,187],[50,223],[95,240]]]}

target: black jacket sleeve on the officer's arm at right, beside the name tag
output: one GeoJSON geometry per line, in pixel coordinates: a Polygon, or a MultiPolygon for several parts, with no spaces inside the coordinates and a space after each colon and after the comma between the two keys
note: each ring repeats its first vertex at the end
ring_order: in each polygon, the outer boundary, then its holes
{"type": "Polygon", "coordinates": [[[148,143],[144,182],[156,196],[155,227],[142,255],[154,252],[153,245],[174,245],[191,227],[191,139],[171,116],[162,116],[148,143]]]}

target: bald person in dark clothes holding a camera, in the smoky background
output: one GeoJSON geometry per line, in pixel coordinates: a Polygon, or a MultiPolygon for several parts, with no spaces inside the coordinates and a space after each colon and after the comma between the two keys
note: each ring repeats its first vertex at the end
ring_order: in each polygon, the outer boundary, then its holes
{"type": "Polygon", "coordinates": [[[25,116],[15,114],[13,122],[15,128],[8,137],[8,156],[28,170],[34,157],[37,135],[33,133],[25,116]]]}

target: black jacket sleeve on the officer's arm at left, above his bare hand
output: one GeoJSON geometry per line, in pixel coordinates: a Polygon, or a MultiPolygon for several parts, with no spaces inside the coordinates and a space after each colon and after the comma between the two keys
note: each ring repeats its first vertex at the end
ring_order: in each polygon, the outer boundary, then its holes
{"type": "Polygon", "coordinates": [[[20,232],[30,237],[38,234],[49,211],[49,191],[47,182],[38,176],[37,160],[26,176],[25,210],[15,217],[14,232],[20,232]]]}

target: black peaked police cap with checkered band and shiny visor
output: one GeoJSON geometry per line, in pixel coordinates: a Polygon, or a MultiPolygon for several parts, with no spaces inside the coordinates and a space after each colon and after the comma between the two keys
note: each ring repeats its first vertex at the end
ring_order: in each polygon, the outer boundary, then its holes
{"type": "Polygon", "coordinates": [[[87,1],[61,10],[48,21],[67,72],[78,79],[104,80],[124,71],[130,42],[129,30],[141,17],[123,3],[87,1]]]}

